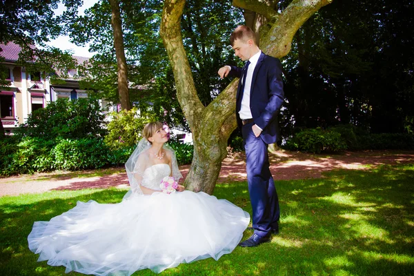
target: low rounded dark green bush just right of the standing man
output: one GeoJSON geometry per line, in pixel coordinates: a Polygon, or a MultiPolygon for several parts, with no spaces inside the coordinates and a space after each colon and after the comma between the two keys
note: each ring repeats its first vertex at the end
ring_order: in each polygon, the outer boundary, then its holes
{"type": "Polygon", "coordinates": [[[304,152],[337,152],[346,150],[346,142],[339,132],[323,130],[322,128],[309,128],[298,132],[287,139],[284,146],[288,150],[304,152]]]}

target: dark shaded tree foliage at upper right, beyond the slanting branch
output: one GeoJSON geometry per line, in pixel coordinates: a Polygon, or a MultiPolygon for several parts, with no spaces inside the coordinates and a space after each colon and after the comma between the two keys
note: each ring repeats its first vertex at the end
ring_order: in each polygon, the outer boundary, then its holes
{"type": "Polygon", "coordinates": [[[334,1],[308,20],[286,57],[284,135],[353,124],[373,133],[413,128],[410,1],[334,1]]]}

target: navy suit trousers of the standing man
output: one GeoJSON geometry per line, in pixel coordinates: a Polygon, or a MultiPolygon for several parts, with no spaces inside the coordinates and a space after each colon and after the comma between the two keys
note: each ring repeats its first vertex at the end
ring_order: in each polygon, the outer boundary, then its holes
{"type": "Polygon", "coordinates": [[[268,144],[262,138],[255,137],[253,125],[244,125],[242,135],[246,150],[248,192],[253,208],[253,228],[255,234],[264,237],[270,230],[278,229],[279,199],[269,168],[268,144]]]}

